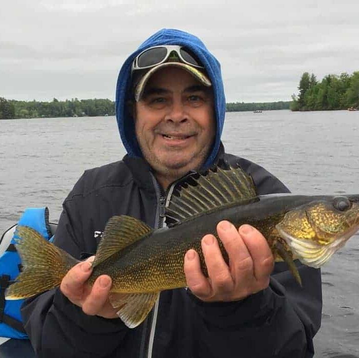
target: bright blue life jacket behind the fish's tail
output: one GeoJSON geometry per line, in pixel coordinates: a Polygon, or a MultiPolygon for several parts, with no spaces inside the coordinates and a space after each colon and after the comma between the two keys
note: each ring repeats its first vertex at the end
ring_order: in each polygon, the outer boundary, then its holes
{"type": "MultiPolygon", "coordinates": [[[[26,209],[17,225],[32,227],[46,240],[51,239],[47,207],[26,209]]],[[[5,300],[6,288],[16,279],[22,268],[21,258],[14,245],[15,239],[21,239],[16,236],[16,231],[10,245],[0,257],[0,336],[28,339],[20,313],[24,300],[5,300]]]]}

